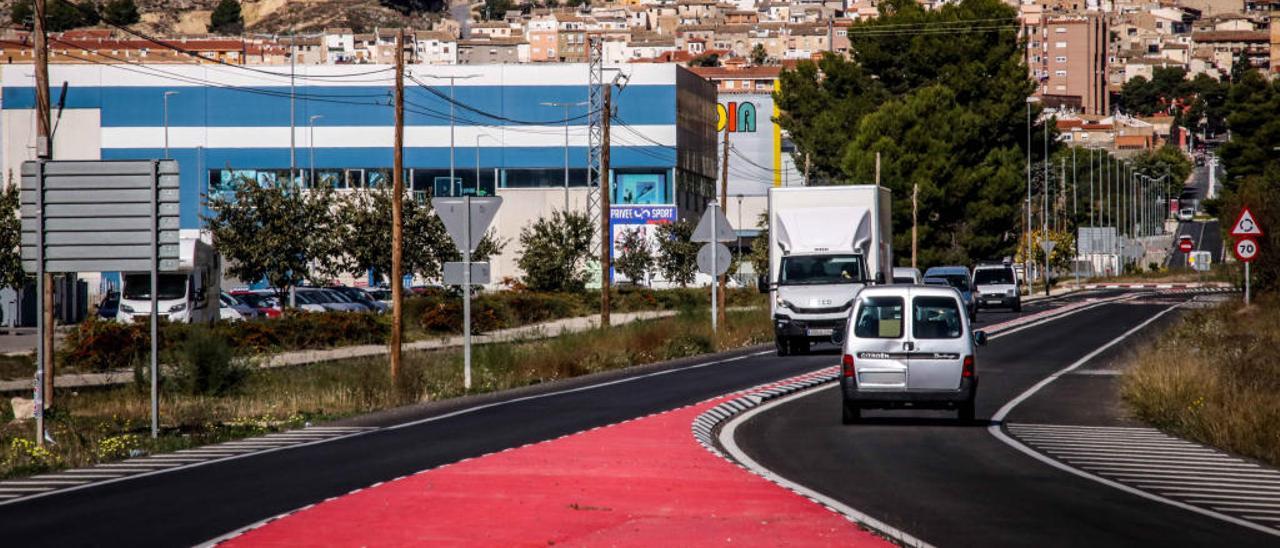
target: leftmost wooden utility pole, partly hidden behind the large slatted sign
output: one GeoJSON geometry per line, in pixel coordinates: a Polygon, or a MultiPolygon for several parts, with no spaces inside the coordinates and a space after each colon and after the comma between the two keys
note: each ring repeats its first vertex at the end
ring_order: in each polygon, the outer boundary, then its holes
{"type": "MultiPolygon", "coordinates": [[[[49,37],[45,36],[45,0],[36,0],[36,157],[51,160],[54,142],[50,134],[49,106],[49,37]]],[[[41,182],[44,184],[44,182],[41,182]]],[[[44,192],[37,188],[36,192],[44,192]]],[[[40,211],[44,219],[45,213],[40,211]]],[[[41,265],[44,271],[44,265],[41,265]]],[[[36,444],[45,444],[45,410],[54,405],[54,275],[44,273],[40,280],[40,309],[42,325],[40,329],[40,364],[36,364],[36,444]]]]}

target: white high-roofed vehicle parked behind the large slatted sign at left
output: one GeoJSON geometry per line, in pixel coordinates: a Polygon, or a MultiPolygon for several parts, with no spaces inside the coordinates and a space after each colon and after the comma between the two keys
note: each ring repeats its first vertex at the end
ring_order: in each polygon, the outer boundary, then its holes
{"type": "MultiPolygon", "coordinates": [[[[209,324],[220,315],[221,256],[200,230],[178,237],[178,271],[160,273],[156,292],[159,318],[173,323],[209,324]]],[[[120,273],[120,311],[116,319],[132,323],[151,314],[151,273],[120,273]]]]}

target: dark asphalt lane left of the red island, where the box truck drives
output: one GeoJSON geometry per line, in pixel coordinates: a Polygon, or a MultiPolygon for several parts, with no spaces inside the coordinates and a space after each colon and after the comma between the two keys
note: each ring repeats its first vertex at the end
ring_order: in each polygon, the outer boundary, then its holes
{"type": "MultiPolygon", "coordinates": [[[[1021,314],[1074,298],[1027,303],[1021,314]]],[[[979,325],[1015,316],[983,311],[979,325]]],[[[367,434],[0,506],[0,538],[6,545],[201,543],[378,481],[808,373],[833,365],[836,356],[836,347],[828,346],[826,352],[819,347],[815,355],[787,359],[755,352],[705,366],[699,365],[709,359],[684,360],[394,410],[348,421],[383,428],[367,434]],[[652,375],[655,371],[667,373],[652,375]],[[499,402],[506,403],[489,406],[499,402]]]]}

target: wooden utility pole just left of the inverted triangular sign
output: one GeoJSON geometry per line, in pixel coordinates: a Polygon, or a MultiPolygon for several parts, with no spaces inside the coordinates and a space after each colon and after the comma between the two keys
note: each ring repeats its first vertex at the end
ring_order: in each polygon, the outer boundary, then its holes
{"type": "MultiPolygon", "coordinates": [[[[452,118],[452,117],[451,117],[452,118]]],[[[449,177],[453,177],[453,154],[449,152],[449,177]]],[[[401,328],[404,316],[404,275],[402,254],[404,247],[404,29],[396,35],[396,150],[392,173],[392,382],[399,378],[401,328]]],[[[453,181],[451,179],[452,184],[453,181]]],[[[471,245],[471,242],[467,242],[471,245]]]]}

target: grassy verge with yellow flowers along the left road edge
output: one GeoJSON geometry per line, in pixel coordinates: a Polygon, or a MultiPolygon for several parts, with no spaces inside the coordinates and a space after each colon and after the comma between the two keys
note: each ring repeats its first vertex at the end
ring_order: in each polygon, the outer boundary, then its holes
{"type": "Polygon", "coordinates": [[[406,353],[393,383],[385,359],[360,359],[255,370],[232,393],[188,396],[166,385],[159,439],[148,438],[150,403],[136,385],[59,392],[49,415],[56,444],[31,443],[33,425],[8,421],[0,403],[0,478],[88,466],[136,455],[161,453],[302,426],[390,407],[502,391],[590,373],[740,348],[771,341],[768,314],[730,312],[710,333],[705,309],[673,318],[539,341],[484,344],[472,356],[474,384],[462,389],[457,351],[406,353]]]}

